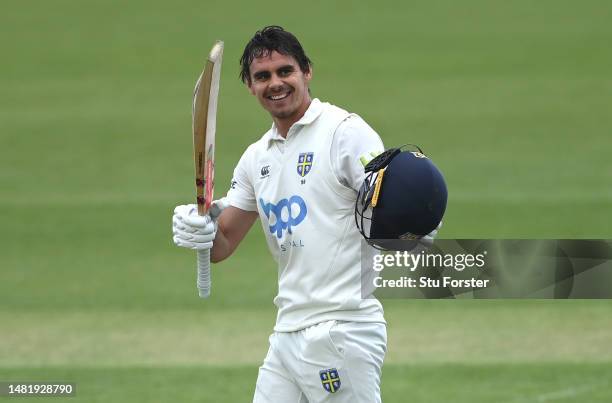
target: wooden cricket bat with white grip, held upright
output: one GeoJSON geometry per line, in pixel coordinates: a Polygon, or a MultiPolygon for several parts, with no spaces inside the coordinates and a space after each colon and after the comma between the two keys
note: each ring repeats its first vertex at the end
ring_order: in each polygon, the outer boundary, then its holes
{"type": "MultiPolygon", "coordinates": [[[[223,42],[217,41],[193,90],[192,129],[198,215],[206,215],[213,200],[217,98],[223,42]]],[[[197,286],[200,298],[210,295],[210,249],[198,251],[197,286]]]]}

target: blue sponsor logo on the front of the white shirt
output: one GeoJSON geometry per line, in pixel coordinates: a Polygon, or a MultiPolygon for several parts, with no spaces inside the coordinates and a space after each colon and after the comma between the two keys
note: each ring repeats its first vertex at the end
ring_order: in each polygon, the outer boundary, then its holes
{"type": "Polygon", "coordinates": [[[308,213],[306,202],[297,195],[291,196],[288,199],[281,199],[276,204],[266,203],[260,198],[259,204],[268,218],[268,223],[273,220],[275,221],[269,228],[270,233],[276,233],[278,239],[283,237],[285,230],[292,234],[291,228],[304,221],[308,213]]]}

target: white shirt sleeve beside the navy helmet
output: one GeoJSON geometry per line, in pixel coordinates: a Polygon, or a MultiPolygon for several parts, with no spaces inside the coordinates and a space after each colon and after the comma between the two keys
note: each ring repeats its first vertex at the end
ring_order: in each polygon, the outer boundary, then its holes
{"type": "Polygon", "coordinates": [[[384,149],[378,133],[361,117],[351,115],[336,129],[330,151],[332,170],[342,185],[359,191],[365,178],[364,161],[384,149]]]}

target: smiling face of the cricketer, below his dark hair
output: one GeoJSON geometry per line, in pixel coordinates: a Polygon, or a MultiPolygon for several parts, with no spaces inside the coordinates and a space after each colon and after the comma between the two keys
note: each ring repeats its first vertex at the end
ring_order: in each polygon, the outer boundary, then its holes
{"type": "Polygon", "coordinates": [[[292,56],[272,51],[253,59],[249,90],[276,119],[299,120],[308,109],[308,83],[312,71],[303,73],[292,56]]]}

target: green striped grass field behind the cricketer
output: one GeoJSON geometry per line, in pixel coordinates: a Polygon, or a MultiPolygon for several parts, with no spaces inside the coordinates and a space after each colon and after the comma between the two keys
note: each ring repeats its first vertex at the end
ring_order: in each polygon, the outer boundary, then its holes
{"type": "MultiPolygon", "coordinates": [[[[313,95],[440,166],[441,237],[611,237],[609,2],[3,5],[0,381],[250,401],[275,318],[259,224],[202,301],[170,216],[193,199],[191,95],[215,39],[217,195],[269,127],[238,80],[266,24],[301,39],[313,95]]],[[[385,402],[612,401],[611,301],[383,302],[385,402]]]]}

